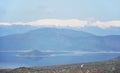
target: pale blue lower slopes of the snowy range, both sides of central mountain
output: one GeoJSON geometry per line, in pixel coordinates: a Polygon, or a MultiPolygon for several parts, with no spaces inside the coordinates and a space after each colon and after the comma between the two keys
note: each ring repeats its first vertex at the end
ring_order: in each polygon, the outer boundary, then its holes
{"type": "MultiPolygon", "coordinates": [[[[30,25],[0,25],[0,36],[7,36],[12,34],[19,34],[19,33],[26,33],[35,29],[45,28],[45,26],[30,26],[30,25]]],[[[109,27],[109,28],[99,28],[99,27],[92,27],[86,26],[82,28],[77,27],[55,27],[51,26],[49,28],[65,28],[65,29],[73,29],[77,31],[85,31],[99,36],[105,35],[120,35],[120,27],[109,27]]]]}

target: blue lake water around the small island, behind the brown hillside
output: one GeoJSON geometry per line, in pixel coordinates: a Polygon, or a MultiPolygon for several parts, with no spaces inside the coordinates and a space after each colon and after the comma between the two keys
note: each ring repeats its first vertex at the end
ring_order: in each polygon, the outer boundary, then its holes
{"type": "MultiPolygon", "coordinates": [[[[48,52],[47,52],[48,53],[48,52]]],[[[16,68],[31,66],[49,66],[58,64],[71,64],[80,62],[94,62],[108,60],[120,53],[75,53],[52,52],[49,56],[22,56],[21,52],[0,52],[0,68],[16,68]]]]}

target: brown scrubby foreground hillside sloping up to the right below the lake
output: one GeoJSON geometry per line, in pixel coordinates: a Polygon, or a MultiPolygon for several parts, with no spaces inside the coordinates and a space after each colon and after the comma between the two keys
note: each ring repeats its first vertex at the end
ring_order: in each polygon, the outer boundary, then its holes
{"type": "Polygon", "coordinates": [[[120,73],[120,57],[101,62],[0,69],[0,73],[120,73]]]}

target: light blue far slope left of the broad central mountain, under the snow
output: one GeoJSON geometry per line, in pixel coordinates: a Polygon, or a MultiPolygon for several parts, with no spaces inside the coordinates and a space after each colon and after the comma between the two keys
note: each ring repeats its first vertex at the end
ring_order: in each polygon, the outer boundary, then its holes
{"type": "Polygon", "coordinates": [[[26,33],[31,30],[35,30],[37,28],[38,27],[27,26],[27,25],[12,25],[12,26],[0,25],[0,36],[26,33]]]}

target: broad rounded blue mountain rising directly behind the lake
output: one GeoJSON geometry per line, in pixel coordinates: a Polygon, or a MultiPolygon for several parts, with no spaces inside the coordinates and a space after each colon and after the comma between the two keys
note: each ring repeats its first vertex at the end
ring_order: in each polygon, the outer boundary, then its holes
{"type": "Polygon", "coordinates": [[[120,51],[120,35],[96,36],[84,31],[39,28],[23,34],[0,37],[1,50],[120,51]]]}

